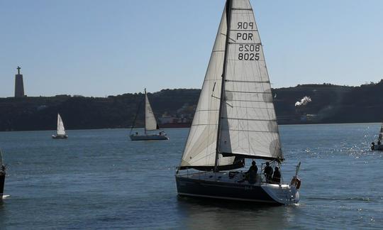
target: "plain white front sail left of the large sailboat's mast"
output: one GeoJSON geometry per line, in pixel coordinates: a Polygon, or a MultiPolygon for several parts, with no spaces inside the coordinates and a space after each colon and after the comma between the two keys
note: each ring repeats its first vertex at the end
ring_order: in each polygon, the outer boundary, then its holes
{"type": "MultiPolygon", "coordinates": [[[[223,16],[180,166],[214,166],[226,30],[225,9],[223,10],[223,16]]],[[[220,155],[218,165],[231,165],[233,161],[233,157],[223,158],[220,155]]]]}

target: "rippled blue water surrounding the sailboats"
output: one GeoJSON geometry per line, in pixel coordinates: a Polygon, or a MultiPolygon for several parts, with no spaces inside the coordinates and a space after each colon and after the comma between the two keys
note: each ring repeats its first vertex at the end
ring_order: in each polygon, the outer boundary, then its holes
{"type": "Polygon", "coordinates": [[[130,141],[126,129],[0,132],[9,165],[0,229],[350,229],[383,227],[380,124],[280,126],[289,181],[301,161],[301,202],[270,207],[178,198],[174,169],[188,129],[130,141]]]}

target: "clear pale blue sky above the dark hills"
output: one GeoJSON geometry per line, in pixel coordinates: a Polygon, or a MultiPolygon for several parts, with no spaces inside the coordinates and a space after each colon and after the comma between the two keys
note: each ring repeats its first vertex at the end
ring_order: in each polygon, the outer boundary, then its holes
{"type": "MultiPolygon", "coordinates": [[[[383,78],[382,0],[251,0],[272,87],[383,78]]],[[[223,0],[0,0],[0,97],[201,88],[223,0]]]]}

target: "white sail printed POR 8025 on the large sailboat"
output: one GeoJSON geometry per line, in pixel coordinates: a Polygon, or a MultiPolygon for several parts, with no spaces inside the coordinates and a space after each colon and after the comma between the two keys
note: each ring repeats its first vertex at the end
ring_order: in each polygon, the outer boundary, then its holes
{"type": "Polygon", "coordinates": [[[260,35],[248,0],[233,0],[220,153],[283,158],[260,35]]]}

